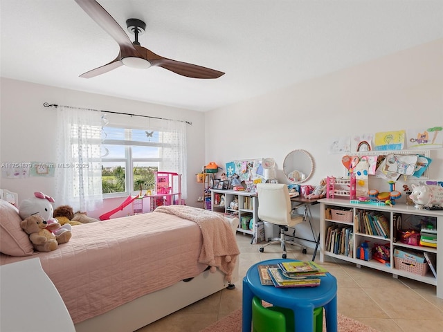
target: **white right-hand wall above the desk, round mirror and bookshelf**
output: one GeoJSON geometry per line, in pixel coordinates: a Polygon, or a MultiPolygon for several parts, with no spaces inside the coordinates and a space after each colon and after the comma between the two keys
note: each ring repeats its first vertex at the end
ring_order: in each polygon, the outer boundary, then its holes
{"type": "MultiPolygon", "coordinates": [[[[288,183],[282,172],[284,157],[293,149],[305,149],[316,165],[307,184],[343,176],[343,155],[327,154],[333,138],[443,126],[442,55],[440,39],[210,111],[206,159],[225,165],[272,157],[278,180],[288,183]]],[[[443,149],[431,150],[431,158],[430,178],[443,181],[443,149]]],[[[369,184],[379,191],[389,189],[380,178],[371,178],[369,184]]],[[[396,189],[402,189],[401,181],[396,189]]]]}

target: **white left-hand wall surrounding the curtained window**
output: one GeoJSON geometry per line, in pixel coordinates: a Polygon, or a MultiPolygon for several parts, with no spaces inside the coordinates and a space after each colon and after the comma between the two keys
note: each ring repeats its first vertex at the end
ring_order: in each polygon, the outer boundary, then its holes
{"type": "MultiPolygon", "coordinates": [[[[187,127],[189,199],[186,203],[197,205],[197,197],[201,196],[201,185],[197,185],[195,174],[205,163],[204,113],[1,78],[0,165],[13,162],[55,161],[57,140],[55,109],[44,107],[44,102],[192,122],[192,125],[187,127]]],[[[126,122],[124,118],[123,120],[126,122]]],[[[148,123],[147,119],[137,118],[137,120],[148,123]]],[[[33,192],[44,192],[54,196],[55,178],[0,177],[0,187],[17,192],[19,201],[33,196],[33,192]]],[[[57,197],[54,199],[56,207],[57,197]]],[[[123,199],[106,201],[102,210],[91,212],[89,215],[97,217],[101,212],[116,208],[121,201],[123,199]]],[[[58,205],[61,204],[59,202],[58,205]]],[[[115,216],[125,213],[127,212],[123,211],[115,216]]]]}

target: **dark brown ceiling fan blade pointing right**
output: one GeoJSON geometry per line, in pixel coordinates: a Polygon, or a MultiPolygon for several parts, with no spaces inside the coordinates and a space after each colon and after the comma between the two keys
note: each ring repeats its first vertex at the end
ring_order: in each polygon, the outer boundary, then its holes
{"type": "Polygon", "coordinates": [[[215,69],[161,57],[143,46],[134,45],[134,47],[140,55],[151,62],[152,66],[159,66],[182,76],[192,78],[218,78],[224,75],[223,72],[216,71],[215,69]]]}

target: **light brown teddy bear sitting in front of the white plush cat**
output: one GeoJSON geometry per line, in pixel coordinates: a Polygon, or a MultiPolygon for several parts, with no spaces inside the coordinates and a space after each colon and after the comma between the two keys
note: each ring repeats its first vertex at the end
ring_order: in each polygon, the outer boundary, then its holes
{"type": "Polygon", "coordinates": [[[29,239],[37,251],[53,251],[58,248],[59,243],[65,243],[71,239],[71,232],[64,232],[56,237],[46,229],[48,223],[37,214],[28,216],[24,221],[21,221],[20,227],[29,235],[29,239]]]}

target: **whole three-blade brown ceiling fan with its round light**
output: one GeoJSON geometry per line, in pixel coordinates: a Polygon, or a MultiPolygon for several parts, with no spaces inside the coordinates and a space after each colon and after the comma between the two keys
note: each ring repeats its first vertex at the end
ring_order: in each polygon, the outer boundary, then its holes
{"type": "Polygon", "coordinates": [[[127,30],[134,33],[135,36],[135,41],[131,42],[131,39],[129,39],[123,28],[118,25],[114,18],[111,17],[105,8],[100,6],[97,1],[75,0],[75,2],[78,3],[87,15],[114,38],[118,46],[120,46],[120,52],[114,60],[104,66],[87,71],[80,75],[80,77],[95,77],[123,65],[132,68],[159,66],[168,69],[168,71],[192,78],[217,78],[224,75],[223,72],[216,71],[215,69],[161,57],[141,46],[138,42],[138,35],[145,33],[146,24],[140,19],[128,19],[126,21],[127,30]]]}

